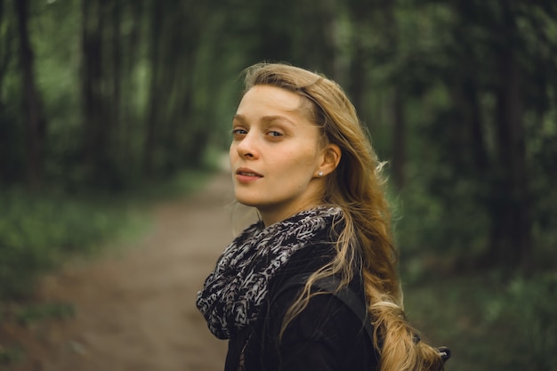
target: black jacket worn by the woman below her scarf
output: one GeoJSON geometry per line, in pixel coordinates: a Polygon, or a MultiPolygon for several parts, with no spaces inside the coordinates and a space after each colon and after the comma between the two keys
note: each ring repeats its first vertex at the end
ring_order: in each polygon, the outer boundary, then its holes
{"type": "MultiPolygon", "coordinates": [[[[376,369],[377,355],[362,320],[334,294],[313,296],[278,341],[285,313],[303,289],[303,283],[288,282],[319,269],[333,254],[327,244],[306,246],[278,270],[257,321],[230,339],[225,371],[238,371],[244,348],[246,371],[376,369]]],[[[361,278],[357,276],[349,286],[361,298],[362,307],[365,306],[361,278]]]]}

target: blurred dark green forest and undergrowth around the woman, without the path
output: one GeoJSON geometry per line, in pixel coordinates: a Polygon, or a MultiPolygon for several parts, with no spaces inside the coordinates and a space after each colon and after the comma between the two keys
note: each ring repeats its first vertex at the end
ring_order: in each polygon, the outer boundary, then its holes
{"type": "Polygon", "coordinates": [[[390,164],[408,318],[448,369],[556,370],[553,0],[0,0],[0,322],[206,180],[262,60],[355,104],[390,164]]]}

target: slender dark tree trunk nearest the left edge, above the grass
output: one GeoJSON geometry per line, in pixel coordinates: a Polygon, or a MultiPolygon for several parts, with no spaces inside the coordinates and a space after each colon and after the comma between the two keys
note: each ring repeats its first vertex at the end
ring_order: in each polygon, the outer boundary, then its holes
{"type": "Polygon", "coordinates": [[[23,85],[23,104],[27,128],[28,185],[39,189],[43,181],[43,147],[46,121],[41,109],[34,73],[34,56],[28,34],[28,0],[15,2],[20,34],[20,69],[23,85]]]}

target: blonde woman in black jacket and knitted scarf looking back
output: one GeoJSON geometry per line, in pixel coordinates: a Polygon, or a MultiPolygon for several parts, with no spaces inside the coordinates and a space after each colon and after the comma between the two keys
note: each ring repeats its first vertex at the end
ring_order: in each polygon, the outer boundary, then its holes
{"type": "Polygon", "coordinates": [[[340,86],[257,64],[232,134],[235,196],[261,220],[198,294],[225,370],[442,369],[404,319],[382,164],[340,86]]]}

